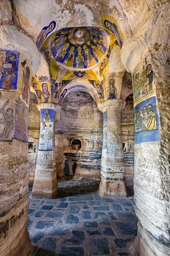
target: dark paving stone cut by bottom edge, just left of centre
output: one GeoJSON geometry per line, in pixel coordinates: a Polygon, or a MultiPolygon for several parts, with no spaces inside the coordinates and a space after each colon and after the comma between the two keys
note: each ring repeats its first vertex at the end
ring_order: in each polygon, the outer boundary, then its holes
{"type": "Polygon", "coordinates": [[[83,256],[84,248],[83,247],[66,247],[63,246],[59,251],[59,255],[62,256],[83,256]]]}

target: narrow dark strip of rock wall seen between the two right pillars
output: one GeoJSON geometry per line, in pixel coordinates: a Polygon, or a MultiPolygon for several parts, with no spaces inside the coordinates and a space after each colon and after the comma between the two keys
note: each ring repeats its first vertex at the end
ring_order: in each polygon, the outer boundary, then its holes
{"type": "Polygon", "coordinates": [[[124,152],[124,182],[128,194],[131,196],[133,191],[134,176],[134,112],[133,94],[126,97],[126,105],[121,111],[121,136],[124,152]]]}

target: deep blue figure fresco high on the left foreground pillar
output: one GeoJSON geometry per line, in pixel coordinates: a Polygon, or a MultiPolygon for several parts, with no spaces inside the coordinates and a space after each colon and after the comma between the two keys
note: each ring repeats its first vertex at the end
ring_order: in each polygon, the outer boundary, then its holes
{"type": "Polygon", "coordinates": [[[0,49],[0,89],[17,89],[18,70],[19,52],[0,49]]]}

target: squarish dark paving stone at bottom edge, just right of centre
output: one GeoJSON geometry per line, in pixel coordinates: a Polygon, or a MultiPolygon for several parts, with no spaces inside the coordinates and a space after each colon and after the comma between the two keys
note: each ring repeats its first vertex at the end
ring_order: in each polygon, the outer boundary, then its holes
{"type": "Polygon", "coordinates": [[[110,254],[109,241],[104,238],[91,238],[90,240],[90,253],[91,255],[107,255],[110,254]]]}

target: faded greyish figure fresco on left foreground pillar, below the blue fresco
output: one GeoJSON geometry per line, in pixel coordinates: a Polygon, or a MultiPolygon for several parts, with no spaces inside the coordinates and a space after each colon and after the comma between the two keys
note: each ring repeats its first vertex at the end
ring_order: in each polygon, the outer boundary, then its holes
{"type": "Polygon", "coordinates": [[[14,109],[10,101],[1,102],[0,107],[0,141],[12,141],[14,131],[14,109]]]}

